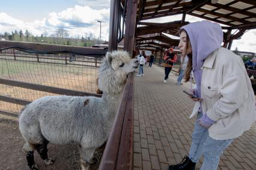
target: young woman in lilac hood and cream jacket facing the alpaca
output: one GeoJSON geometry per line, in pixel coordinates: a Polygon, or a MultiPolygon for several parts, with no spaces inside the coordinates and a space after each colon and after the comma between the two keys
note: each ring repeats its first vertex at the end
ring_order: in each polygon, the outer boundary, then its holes
{"type": "Polygon", "coordinates": [[[197,121],[189,155],[169,169],[195,169],[202,154],[201,169],[217,169],[225,148],[248,130],[256,119],[251,81],[240,56],[221,47],[223,32],[218,23],[190,23],[180,31],[180,50],[189,57],[185,80],[194,73],[200,99],[194,110],[197,121]]]}

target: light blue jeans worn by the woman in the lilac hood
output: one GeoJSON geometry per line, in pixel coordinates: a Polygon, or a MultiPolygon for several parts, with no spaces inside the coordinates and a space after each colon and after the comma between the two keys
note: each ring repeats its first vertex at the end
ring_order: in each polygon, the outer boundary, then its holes
{"type": "MultiPolygon", "coordinates": [[[[197,120],[202,116],[202,113],[198,113],[197,120]]],[[[211,138],[208,129],[199,125],[196,121],[194,132],[192,134],[189,159],[192,160],[192,162],[197,163],[203,154],[204,162],[201,166],[201,170],[217,169],[221,154],[233,141],[234,139],[215,140],[211,138]]]]}

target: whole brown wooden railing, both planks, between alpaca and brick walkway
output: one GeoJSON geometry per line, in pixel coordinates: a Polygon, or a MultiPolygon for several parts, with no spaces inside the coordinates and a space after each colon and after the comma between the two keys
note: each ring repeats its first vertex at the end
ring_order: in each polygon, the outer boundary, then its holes
{"type": "Polygon", "coordinates": [[[123,97],[109,135],[100,170],[132,169],[134,74],[129,74],[123,97]]]}

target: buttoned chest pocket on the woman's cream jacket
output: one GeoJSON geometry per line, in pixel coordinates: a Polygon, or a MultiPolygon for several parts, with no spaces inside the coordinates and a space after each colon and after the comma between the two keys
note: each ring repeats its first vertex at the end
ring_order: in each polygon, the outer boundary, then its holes
{"type": "Polygon", "coordinates": [[[209,98],[219,98],[221,97],[219,93],[219,87],[218,85],[212,85],[208,82],[202,82],[202,91],[204,95],[206,95],[209,98]]]}

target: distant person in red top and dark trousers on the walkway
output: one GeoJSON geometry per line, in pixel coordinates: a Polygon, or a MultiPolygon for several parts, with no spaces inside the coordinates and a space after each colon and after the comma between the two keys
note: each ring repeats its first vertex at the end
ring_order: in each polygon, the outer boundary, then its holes
{"type": "Polygon", "coordinates": [[[169,73],[171,72],[173,63],[176,62],[177,56],[173,52],[173,48],[169,48],[169,51],[165,54],[165,57],[163,58],[165,60],[165,63],[168,65],[165,66],[165,78],[163,79],[163,83],[167,83],[167,79],[169,76],[169,73]]]}

